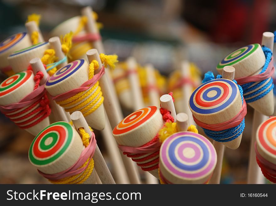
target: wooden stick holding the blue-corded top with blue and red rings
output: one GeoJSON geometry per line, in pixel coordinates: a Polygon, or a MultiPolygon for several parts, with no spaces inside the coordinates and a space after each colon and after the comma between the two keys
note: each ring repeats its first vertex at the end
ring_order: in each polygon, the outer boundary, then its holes
{"type": "MultiPolygon", "coordinates": [[[[233,80],[235,78],[235,68],[233,66],[225,66],[222,71],[222,78],[233,80]]],[[[213,140],[213,145],[217,152],[217,164],[215,166],[215,169],[209,181],[209,184],[220,184],[225,146],[221,142],[217,142],[215,140],[213,140]]]]}

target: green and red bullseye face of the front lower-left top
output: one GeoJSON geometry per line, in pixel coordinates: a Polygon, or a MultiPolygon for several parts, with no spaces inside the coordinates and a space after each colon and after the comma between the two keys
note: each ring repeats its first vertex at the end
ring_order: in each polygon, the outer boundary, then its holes
{"type": "Polygon", "coordinates": [[[43,129],[29,148],[29,160],[34,165],[46,165],[57,160],[72,142],[73,129],[67,122],[56,122],[43,129]]]}

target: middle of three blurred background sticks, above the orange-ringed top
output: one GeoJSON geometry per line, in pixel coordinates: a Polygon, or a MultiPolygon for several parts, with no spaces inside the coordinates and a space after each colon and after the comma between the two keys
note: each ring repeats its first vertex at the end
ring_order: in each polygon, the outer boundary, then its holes
{"type": "Polygon", "coordinates": [[[150,104],[153,106],[160,106],[159,102],[159,93],[156,89],[156,77],[154,74],[154,68],[152,64],[147,64],[146,65],[146,77],[147,77],[147,85],[149,87],[148,89],[148,96],[150,99],[150,104]]]}

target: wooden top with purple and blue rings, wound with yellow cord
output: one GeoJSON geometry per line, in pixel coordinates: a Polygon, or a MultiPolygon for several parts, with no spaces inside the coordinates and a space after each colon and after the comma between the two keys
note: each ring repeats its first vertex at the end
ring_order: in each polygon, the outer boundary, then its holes
{"type": "MultiPolygon", "coordinates": [[[[45,88],[51,96],[55,97],[80,87],[84,82],[88,81],[88,74],[89,65],[86,60],[72,61],[57,70],[45,83],[45,88]]],[[[101,103],[92,113],[90,112],[103,98],[101,92],[98,92],[97,96],[93,96],[98,89],[100,89],[99,86],[96,86],[93,90],[92,87],[88,88],[82,91],[82,95],[79,98],[69,103],[56,102],[70,114],[74,111],[81,111],[90,126],[94,129],[102,130],[105,126],[103,104],[101,103]]]]}

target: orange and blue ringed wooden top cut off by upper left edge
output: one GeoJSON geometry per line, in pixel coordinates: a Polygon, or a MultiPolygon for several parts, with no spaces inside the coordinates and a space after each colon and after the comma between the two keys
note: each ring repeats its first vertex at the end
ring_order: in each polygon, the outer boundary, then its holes
{"type": "Polygon", "coordinates": [[[29,35],[26,32],[14,34],[0,43],[0,70],[8,77],[14,72],[8,62],[8,56],[13,52],[32,45],[29,35]]]}

